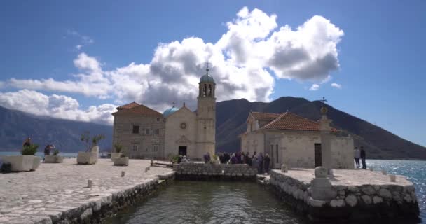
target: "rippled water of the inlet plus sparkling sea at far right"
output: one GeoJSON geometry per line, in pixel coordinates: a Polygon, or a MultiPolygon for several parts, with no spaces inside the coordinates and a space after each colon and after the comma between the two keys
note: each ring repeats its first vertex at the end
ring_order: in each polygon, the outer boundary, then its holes
{"type": "MultiPolygon", "coordinates": [[[[367,160],[415,184],[426,223],[426,161],[367,160]]],[[[305,223],[273,193],[255,183],[175,181],[107,221],[118,223],[305,223]]]]}

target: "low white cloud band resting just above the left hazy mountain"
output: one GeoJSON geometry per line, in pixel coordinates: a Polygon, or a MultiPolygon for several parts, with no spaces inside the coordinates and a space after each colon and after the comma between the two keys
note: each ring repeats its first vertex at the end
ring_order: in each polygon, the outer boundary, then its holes
{"type": "Polygon", "coordinates": [[[88,109],[82,110],[74,98],[57,94],[48,96],[33,90],[0,92],[0,106],[39,116],[109,125],[113,123],[111,113],[116,111],[116,105],[113,104],[89,106],[88,109]]]}

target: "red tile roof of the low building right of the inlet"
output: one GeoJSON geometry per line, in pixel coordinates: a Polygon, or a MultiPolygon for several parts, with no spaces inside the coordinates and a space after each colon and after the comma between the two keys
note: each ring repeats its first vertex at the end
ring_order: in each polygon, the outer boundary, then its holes
{"type": "MultiPolygon", "coordinates": [[[[270,123],[261,127],[261,129],[277,129],[277,130],[296,130],[296,131],[320,131],[320,124],[303,118],[294,113],[286,112],[272,120],[270,123]]],[[[335,128],[331,129],[331,132],[338,132],[335,128]]]]}

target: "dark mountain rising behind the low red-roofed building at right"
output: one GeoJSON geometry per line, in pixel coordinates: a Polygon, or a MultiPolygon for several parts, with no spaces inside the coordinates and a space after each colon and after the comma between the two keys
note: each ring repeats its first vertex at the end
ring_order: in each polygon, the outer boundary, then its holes
{"type": "MultiPolygon", "coordinates": [[[[319,120],[321,104],[295,97],[281,97],[270,103],[249,102],[246,99],[218,102],[216,150],[231,152],[240,149],[238,134],[245,132],[245,122],[250,110],[267,113],[284,113],[288,110],[311,120],[319,120]]],[[[355,146],[364,146],[369,158],[426,160],[425,147],[401,139],[381,127],[332,106],[328,105],[327,108],[327,116],[333,120],[332,125],[342,130],[341,134],[354,137],[355,146]]]]}

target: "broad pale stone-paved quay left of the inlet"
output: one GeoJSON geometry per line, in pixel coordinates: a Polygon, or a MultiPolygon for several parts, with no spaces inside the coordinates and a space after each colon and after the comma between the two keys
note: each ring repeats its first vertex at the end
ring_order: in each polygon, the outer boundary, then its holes
{"type": "Polygon", "coordinates": [[[72,158],[43,163],[34,172],[0,174],[0,223],[101,223],[153,193],[164,183],[160,179],[174,179],[170,168],[147,170],[150,162],[76,165],[72,158]]]}

